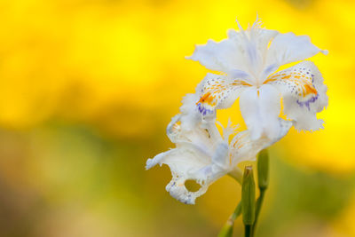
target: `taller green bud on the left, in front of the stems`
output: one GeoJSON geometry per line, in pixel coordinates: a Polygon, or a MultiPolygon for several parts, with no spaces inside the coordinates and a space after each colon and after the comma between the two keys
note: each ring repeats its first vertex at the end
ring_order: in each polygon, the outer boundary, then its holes
{"type": "Polygon", "coordinates": [[[241,186],[241,213],[243,215],[244,225],[254,224],[256,197],[255,188],[253,167],[246,166],[241,186]]]}

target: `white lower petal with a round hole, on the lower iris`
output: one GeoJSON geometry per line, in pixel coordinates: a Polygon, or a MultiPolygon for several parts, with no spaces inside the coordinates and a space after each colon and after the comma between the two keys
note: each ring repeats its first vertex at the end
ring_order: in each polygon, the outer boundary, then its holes
{"type": "MultiPolygon", "coordinates": [[[[228,146],[226,146],[228,150],[228,146]]],[[[193,146],[179,146],[168,152],[158,154],[153,159],[146,161],[146,169],[156,164],[167,164],[171,171],[171,181],[166,190],[172,197],[185,204],[194,204],[197,197],[205,194],[208,187],[227,174],[230,169],[225,169],[220,164],[225,160],[225,146],[217,146],[213,157],[206,156],[193,146]],[[186,180],[194,180],[201,188],[191,192],[185,187],[186,180]]],[[[229,167],[228,167],[229,168],[229,167]]]]}

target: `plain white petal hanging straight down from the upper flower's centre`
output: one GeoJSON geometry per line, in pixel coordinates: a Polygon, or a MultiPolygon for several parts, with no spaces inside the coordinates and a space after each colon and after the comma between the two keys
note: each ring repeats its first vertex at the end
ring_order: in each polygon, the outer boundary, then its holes
{"type": "Polygon", "coordinates": [[[241,93],[241,115],[253,140],[266,136],[278,138],[280,134],[280,92],[271,85],[251,87],[241,93]]]}

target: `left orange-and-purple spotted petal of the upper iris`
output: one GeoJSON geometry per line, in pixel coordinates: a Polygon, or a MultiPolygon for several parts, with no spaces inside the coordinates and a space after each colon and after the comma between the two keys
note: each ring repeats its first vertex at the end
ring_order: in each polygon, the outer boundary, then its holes
{"type": "Polygon", "coordinates": [[[241,91],[251,86],[240,79],[214,74],[206,75],[202,84],[201,98],[197,101],[197,107],[202,115],[213,114],[216,108],[231,107],[241,91]]]}

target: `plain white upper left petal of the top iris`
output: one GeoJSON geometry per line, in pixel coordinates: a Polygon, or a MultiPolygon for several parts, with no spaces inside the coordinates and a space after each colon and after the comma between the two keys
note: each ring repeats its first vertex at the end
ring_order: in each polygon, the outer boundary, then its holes
{"type": "Polygon", "coordinates": [[[225,39],[219,43],[209,40],[207,44],[197,45],[191,57],[199,61],[202,66],[211,70],[229,73],[234,69],[245,71],[248,67],[245,65],[243,53],[233,40],[225,39]]]}

